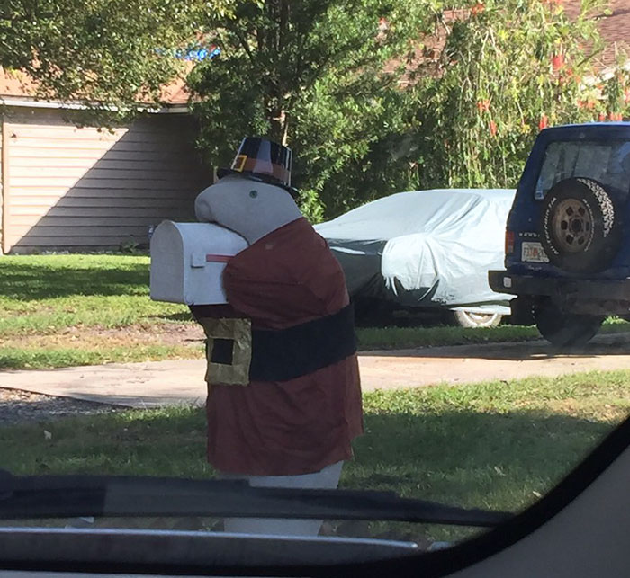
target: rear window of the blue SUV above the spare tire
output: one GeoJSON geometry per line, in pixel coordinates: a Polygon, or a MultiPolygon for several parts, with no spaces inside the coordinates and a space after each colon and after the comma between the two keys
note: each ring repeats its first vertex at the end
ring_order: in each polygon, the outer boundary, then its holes
{"type": "Polygon", "coordinates": [[[601,182],[619,200],[630,191],[630,141],[567,141],[551,143],[536,183],[536,199],[544,199],[556,182],[569,177],[601,182]]]}

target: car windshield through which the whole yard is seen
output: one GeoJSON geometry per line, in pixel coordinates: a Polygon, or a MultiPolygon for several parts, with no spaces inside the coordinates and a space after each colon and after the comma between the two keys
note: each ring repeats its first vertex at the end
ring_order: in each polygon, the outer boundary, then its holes
{"type": "Polygon", "coordinates": [[[627,126],[593,10],[0,9],[0,530],[404,556],[543,499],[630,412],[630,141],[517,191],[627,126]]]}

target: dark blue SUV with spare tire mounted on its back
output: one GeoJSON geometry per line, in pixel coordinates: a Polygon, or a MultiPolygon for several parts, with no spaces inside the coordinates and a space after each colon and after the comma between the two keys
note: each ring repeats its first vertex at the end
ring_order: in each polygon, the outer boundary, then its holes
{"type": "Polygon", "coordinates": [[[630,314],[629,194],[630,122],[538,135],[509,212],[506,271],[489,273],[493,290],[517,296],[513,323],[566,347],[630,314]]]}

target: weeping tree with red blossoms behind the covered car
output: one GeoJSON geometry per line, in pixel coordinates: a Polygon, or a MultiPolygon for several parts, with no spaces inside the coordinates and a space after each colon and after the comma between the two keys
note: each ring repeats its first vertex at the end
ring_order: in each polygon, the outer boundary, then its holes
{"type": "Polygon", "coordinates": [[[487,0],[455,19],[410,94],[416,186],[515,187],[540,129],[630,112],[627,68],[595,66],[598,14],[599,0],[571,18],[562,0],[487,0]]]}

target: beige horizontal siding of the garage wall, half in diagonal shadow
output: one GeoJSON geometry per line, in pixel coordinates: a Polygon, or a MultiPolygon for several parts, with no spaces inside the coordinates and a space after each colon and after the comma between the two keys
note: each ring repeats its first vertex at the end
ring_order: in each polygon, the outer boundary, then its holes
{"type": "Polygon", "coordinates": [[[99,130],[33,110],[14,113],[4,132],[4,248],[12,253],[146,245],[148,227],[193,219],[194,197],[211,182],[185,115],[99,130]]]}

